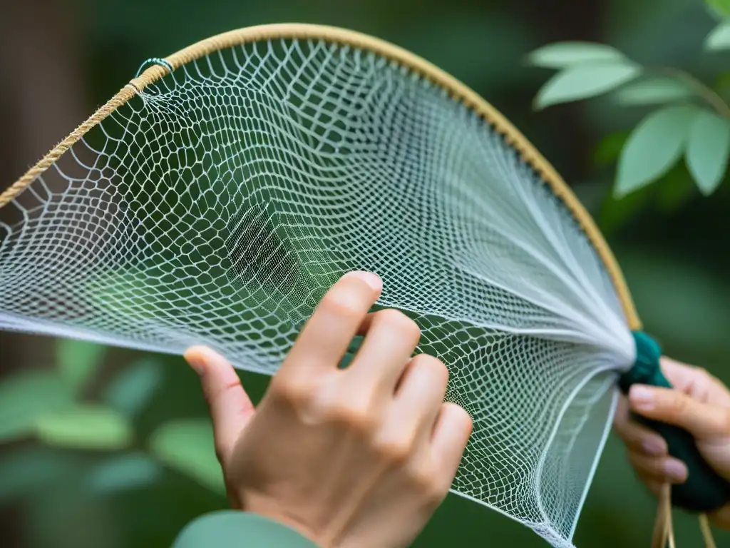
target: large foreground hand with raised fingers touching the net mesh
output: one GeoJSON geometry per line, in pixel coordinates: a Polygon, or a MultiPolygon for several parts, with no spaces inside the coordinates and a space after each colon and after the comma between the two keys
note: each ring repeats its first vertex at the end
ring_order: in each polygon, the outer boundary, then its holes
{"type": "Polygon", "coordinates": [[[258,409],[226,359],[204,347],[185,354],[201,375],[231,502],[323,548],[410,544],[447,495],[472,430],[469,414],[443,401],[445,365],[411,358],[415,322],[368,313],[381,289],[377,275],[343,276],[258,409]],[[358,354],[338,368],[356,335],[358,354]]]}

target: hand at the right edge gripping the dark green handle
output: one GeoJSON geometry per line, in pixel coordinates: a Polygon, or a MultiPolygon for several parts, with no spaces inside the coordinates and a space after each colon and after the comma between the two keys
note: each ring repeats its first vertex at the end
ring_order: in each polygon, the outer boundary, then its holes
{"type": "MultiPolygon", "coordinates": [[[[631,420],[630,411],[687,430],[704,460],[730,481],[730,391],[707,371],[672,359],[662,358],[661,370],[673,389],[634,385],[628,398],[621,397],[615,416],[616,433],[639,479],[658,495],[662,484],[684,483],[688,471],[669,456],[664,438],[631,420]]],[[[710,519],[730,528],[730,505],[710,519]]]]}

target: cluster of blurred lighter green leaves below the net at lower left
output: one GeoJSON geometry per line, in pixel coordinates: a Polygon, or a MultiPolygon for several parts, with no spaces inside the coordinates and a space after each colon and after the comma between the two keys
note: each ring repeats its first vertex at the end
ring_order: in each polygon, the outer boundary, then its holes
{"type": "MultiPolygon", "coordinates": [[[[94,491],[140,487],[158,479],[162,465],[168,465],[222,492],[207,419],[168,420],[151,432],[137,429],[135,419],[163,380],[160,359],[134,360],[97,386],[95,394],[85,392],[106,354],[98,344],[60,339],[55,368],[17,373],[0,384],[10,396],[0,400],[0,422],[7,425],[0,441],[30,439],[36,446],[96,455],[99,462],[88,471],[94,491]],[[21,398],[45,403],[22,406],[21,398]]],[[[15,458],[7,462],[12,470],[15,458]]],[[[11,486],[0,487],[0,492],[13,492],[18,476],[4,473],[0,478],[0,485],[4,480],[11,486]]]]}

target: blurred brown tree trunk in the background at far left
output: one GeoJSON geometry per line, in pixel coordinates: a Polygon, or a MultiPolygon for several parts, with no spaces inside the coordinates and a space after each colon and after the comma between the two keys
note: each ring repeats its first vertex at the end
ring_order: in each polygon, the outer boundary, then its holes
{"type": "MultiPolygon", "coordinates": [[[[74,1],[4,1],[0,17],[0,189],[88,116],[74,1]]],[[[12,208],[0,210],[12,221],[12,208]]],[[[51,340],[0,333],[0,374],[51,362],[51,340]]]]}

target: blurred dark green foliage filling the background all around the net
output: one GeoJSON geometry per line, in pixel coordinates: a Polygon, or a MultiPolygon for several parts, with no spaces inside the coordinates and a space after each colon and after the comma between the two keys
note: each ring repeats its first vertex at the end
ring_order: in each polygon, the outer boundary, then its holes
{"type": "MultiPolygon", "coordinates": [[[[728,146],[718,146],[726,129],[707,117],[710,104],[696,87],[730,100],[730,31],[723,22],[728,2],[596,3],[591,9],[598,12],[599,30],[572,28],[576,40],[560,34],[560,23],[551,18],[558,4],[85,0],[74,19],[90,112],[145,58],[231,28],[332,24],[413,50],[495,104],[566,176],[607,236],[647,330],[666,353],[730,381],[730,192],[723,183],[727,173],[718,175],[728,146]],[[534,13],[520,9],[526,6],[534,13]],[[556,39],[572,45],[556,48],[556,39]],[[592,46],[585,46],[586,39],[592,46]],[[552,53],[543,49],[536,62],[534,52],[545,44],[553,44],[552,53]],[[558,69],[547,91],[540,72],[522,62],[531,54],[533,64],[558,69]],[[596,72],[591,63],[612,68],[596,72]],[[675,77],[677,72],[648,74],[647,66],[673,67],[691,75],[693,84],[675,77]],[[537,103],[550,109],[529,108],[536,94],[537,103]],[[592,100],[572,100],[581,95],[592,100]],[[679,111],[650,123],[690,98],[699,109],[692,123],[679,111]],[[672,132],[656,129],[665,124],[677,132],[696,124],[695,152],[689,152],[688,140],[672,141],[672,132]],[[708,134],[717,137],[710,142],[708,134]],[[695,160],[683,162],[681,156],[695,160]],[[618,172],[630,192],[612,191],[618,172]]],[[[268,378],[241,376],[257,401],[268,378]]],[[[0,439],[0,504],[19,517],[23,547],[166,547],[189,520],[228,506],[199,381],[179,357],[59,340],[55,364],[28,364],[0,383],[0,439]]],[[[646,547],[653,511],[623,447],[610,438],[575,543],[646,547]]],[[[693,517],[677,512],[676,525],[680,547],[699,544],[693,517]]],[[[507,517],[450,495],[415,546],[508,543],[545,546],[507,517]]],[[[718,546],[724,545],[730,536],[718,533],[718,546]]]]}

